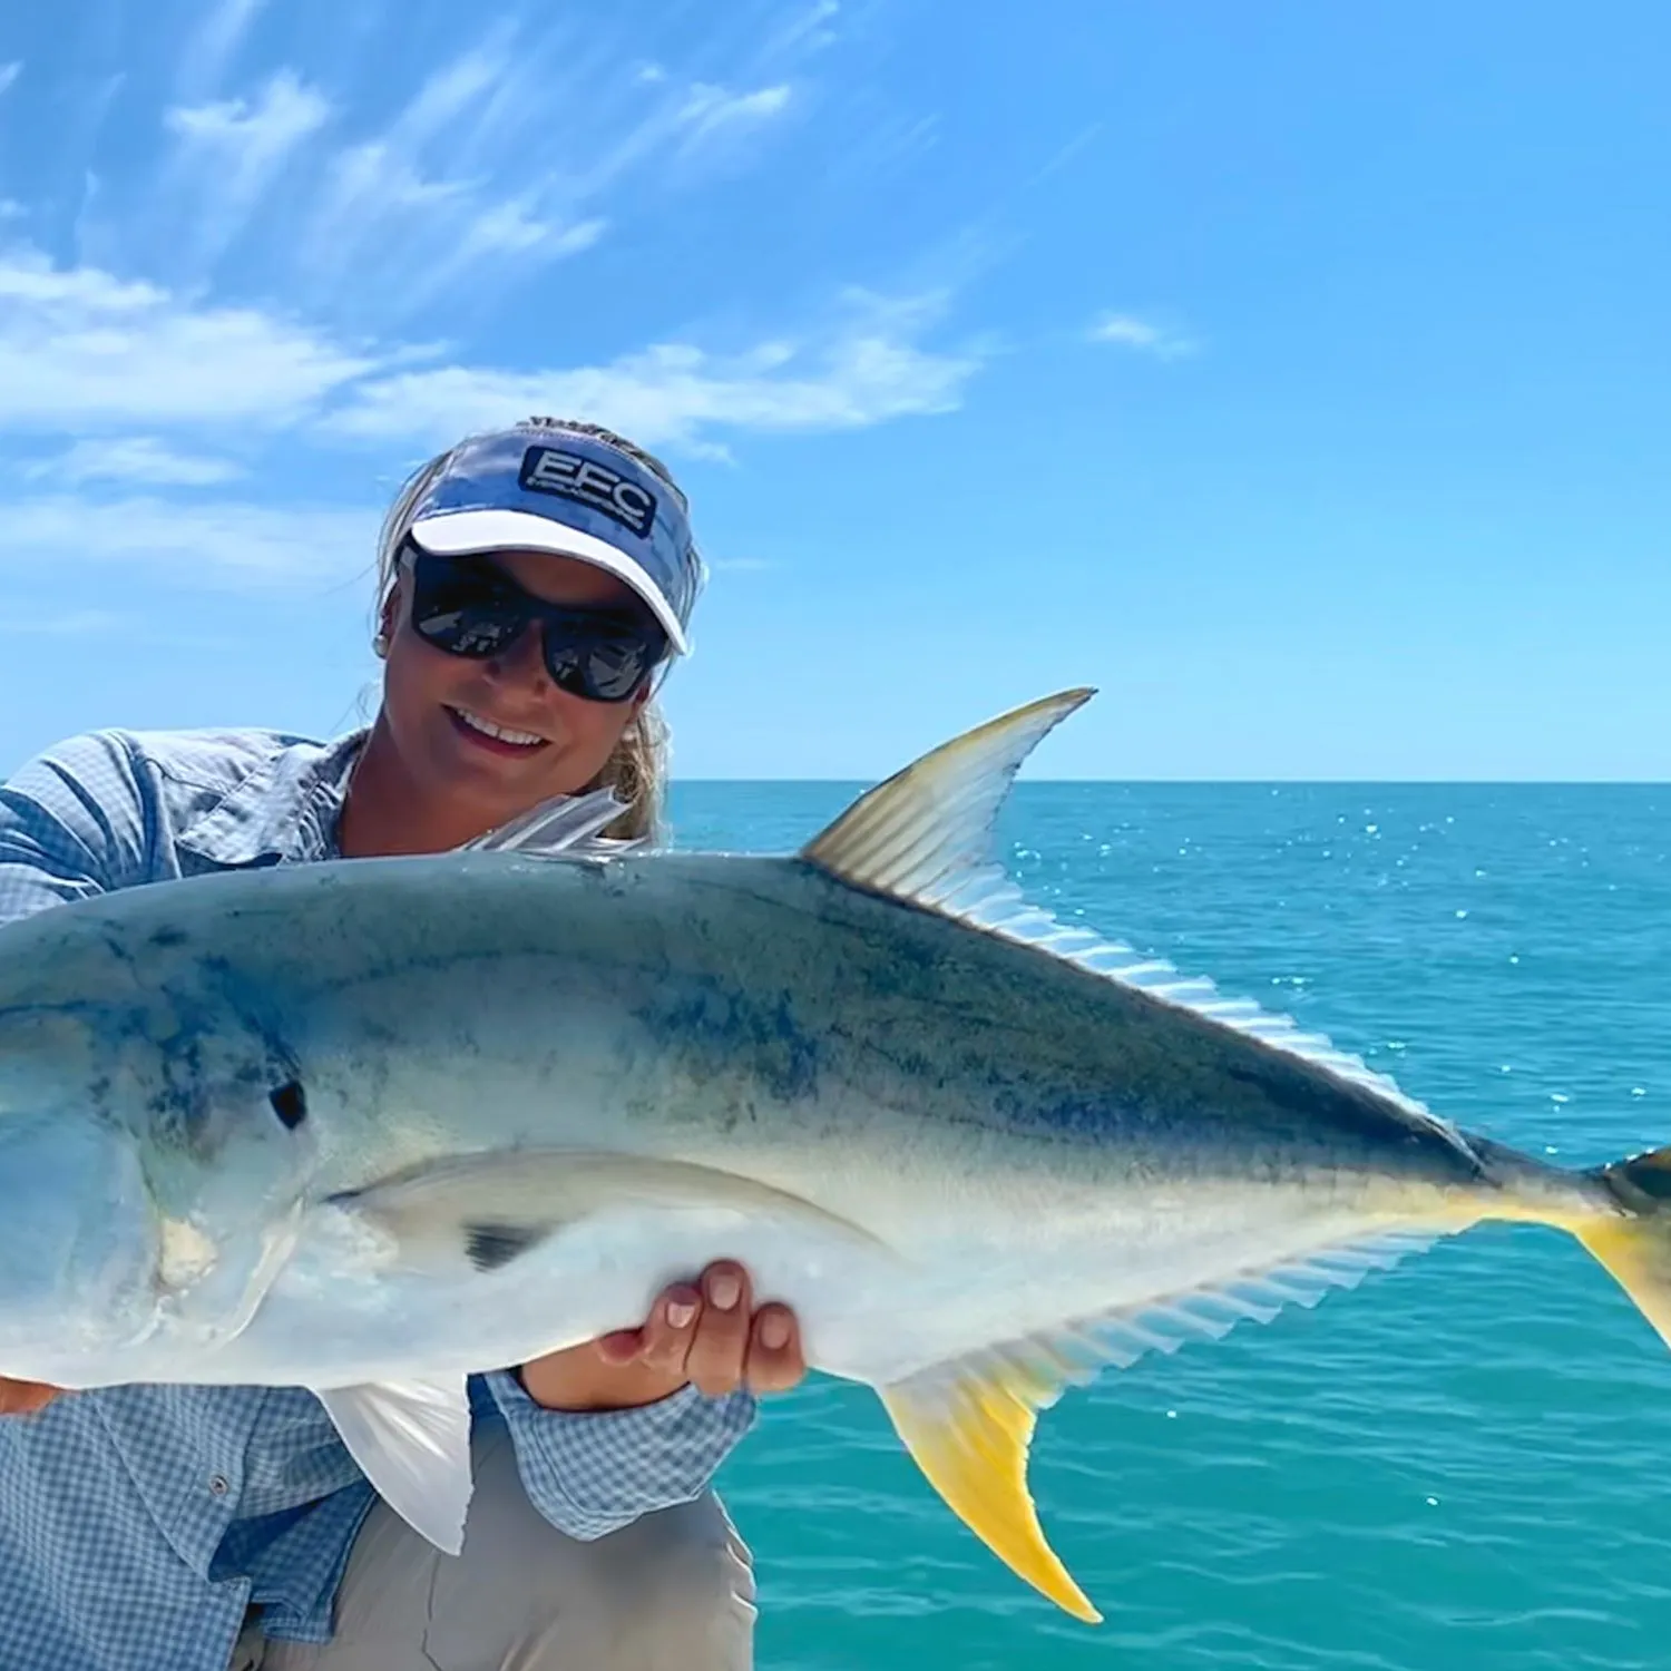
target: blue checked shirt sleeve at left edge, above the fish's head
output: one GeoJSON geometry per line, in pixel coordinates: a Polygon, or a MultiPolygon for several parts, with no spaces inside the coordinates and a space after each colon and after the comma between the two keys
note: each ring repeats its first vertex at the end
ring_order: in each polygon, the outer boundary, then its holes
{"type": "Polygon", "coordinates": [[[0,785],[0,922],[145,881],[145,794],[107,734],[72,737],[0,785]]]}

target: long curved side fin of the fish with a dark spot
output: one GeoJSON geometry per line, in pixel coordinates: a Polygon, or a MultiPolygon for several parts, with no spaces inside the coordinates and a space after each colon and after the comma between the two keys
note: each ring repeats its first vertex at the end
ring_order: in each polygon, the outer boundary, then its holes
{"type": "Polygon", "coordinates": [[[461,1155],[331,1198],[383,1235],[404,1265],[493,1272],[566,1225],[620,1206],[729,1210],[876,1247],[851,1220],[787,1190],[690,1161],[565,1150],[461,1155]]]}

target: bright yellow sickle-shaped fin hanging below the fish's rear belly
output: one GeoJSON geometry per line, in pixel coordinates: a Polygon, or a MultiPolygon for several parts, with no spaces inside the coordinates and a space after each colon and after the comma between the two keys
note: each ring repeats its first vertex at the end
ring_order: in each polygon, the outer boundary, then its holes
{"type": "Polygon", "coordinates": [[[1103,1616],[1044,1539],[1028,1492],[1038,1410],[1058,1387],[1004,1360],[949,1364],[881,1390],[927,1482],[1018,1577],[1086,1624],[1103,1616]]]}

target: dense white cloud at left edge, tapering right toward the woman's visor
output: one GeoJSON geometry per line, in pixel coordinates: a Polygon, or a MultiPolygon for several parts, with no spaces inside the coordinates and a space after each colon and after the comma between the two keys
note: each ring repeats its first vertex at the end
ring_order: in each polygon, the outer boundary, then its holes
{"type": "Polygon", "coordinates": [[[159,286],[0,254],[0,428],[247,419],[279,428],[378,368],[251,307],[194,307],[159,286]]]}

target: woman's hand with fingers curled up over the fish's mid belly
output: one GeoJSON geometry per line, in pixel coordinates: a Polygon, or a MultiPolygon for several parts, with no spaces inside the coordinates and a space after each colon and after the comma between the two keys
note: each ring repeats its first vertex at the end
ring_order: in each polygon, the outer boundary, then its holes
{"type": "Polygon", "coordinates": [[[805,1374],[795,1313],[775,1302],[755,1310],[749,1273],[717,1260],[700,1283],[663,1290],[642,1328],[535,1359],[521,1380],[551,1410],[627,1410],[687,1382],[717,1399],[739,1387],[787,1392],[805,1374]]]}

